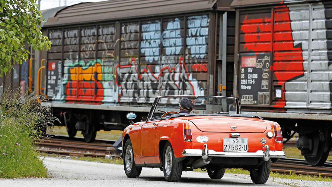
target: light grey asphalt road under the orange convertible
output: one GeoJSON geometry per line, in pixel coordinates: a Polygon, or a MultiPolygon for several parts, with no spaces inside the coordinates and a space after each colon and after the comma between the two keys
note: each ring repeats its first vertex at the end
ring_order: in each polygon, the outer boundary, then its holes
{"type": "MultiPolygon", "coordinates": [[[[225,174],[212,180],[207,173],[183,172],[181,181],[166,182],[159,168],[143,168],[138,178],[128,178],[123,165],[46,157],[50,178],[0,179],[0,186],[257,186],[249,175],[225,174]]],[[[259,186],[330,186],[332,183],[272,179],[259,186]]]]}

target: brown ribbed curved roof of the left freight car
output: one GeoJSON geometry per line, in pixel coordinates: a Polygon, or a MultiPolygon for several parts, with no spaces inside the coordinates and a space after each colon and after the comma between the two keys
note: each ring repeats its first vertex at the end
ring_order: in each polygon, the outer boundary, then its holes
{"type": "Polygon", "coordinates": [[[111,0],[76,4],[48,19],[45,27],[170,15],[206,10],[230,10],[231,0],[111,0]]]}

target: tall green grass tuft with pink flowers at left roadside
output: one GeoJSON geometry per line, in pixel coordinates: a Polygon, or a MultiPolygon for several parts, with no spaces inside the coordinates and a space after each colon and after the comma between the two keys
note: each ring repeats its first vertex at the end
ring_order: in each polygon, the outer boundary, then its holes
{"type": "Polygon", "coordinates": [[[16,90],[0,98],[0,178],[47,177],[33,141],[44,139],[46,125],[56,118],[37,96],[21,97],[16,90]]]}

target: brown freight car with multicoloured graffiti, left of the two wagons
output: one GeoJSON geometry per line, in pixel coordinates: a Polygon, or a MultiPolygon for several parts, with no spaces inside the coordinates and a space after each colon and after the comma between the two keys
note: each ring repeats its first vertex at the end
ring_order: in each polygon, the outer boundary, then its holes
{"type": "Polygon", "coordinates": [[[37,60],[42,104],[69,136],[79,130],[91,142],[101,129],[123,130],[128,111],[145,118],[156,96],[231,96],[230,3],[112,0],[54,12],[41,30],[52,46],[37,60]]]}

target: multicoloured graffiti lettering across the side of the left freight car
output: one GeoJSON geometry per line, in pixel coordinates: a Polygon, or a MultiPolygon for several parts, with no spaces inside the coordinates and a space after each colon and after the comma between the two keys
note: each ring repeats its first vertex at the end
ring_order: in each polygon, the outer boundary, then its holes
{"type": "Polygon", "coordinates": [[[187,31],[183,17],[142,22],[141,30],[137,22],[123,23],[118,40],[114,24],[100,26],[97,52],[96,27],[82,28],[80,41],[78,29],[65,29],[62,100],[146,103],[158,95],[204,95],[208,23],[207,15],[187,17],[187,31]]]}

